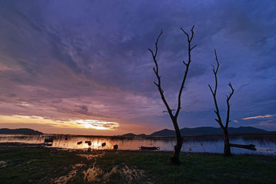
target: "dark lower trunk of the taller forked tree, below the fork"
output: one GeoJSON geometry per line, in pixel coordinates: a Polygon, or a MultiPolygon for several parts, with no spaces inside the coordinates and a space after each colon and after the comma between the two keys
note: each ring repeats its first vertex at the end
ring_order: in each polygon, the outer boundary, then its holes
{"type": "Polygon", "coordinates": [[[173,120],[172,123],[175,127],[175,134],[177,135],[177,145],[175,145],[175,149],[173,150],[173,155],[172,155],[172,158],[170,159],[170,162],[174,163],[174,164],[179,164],[180,163],[179,153],[181,151],[183,139],[182,139],[181,134],[180,134],[180,130],[179,130],[179,127],[178,127],[178,124],[177,124],[177,120],[173,120]]]}

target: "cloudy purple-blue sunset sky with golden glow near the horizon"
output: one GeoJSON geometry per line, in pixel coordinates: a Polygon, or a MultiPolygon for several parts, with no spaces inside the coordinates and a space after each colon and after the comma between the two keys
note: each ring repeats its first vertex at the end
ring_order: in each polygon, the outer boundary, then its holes
{"type": "Polygon", "coordinates": [[[155,48],[172,109],[192,62],[179,127],[219,127],[228,83],[230,127],[276,130],[276,1],[0,1],[0,127],[118,135],[173,129],[153,83],[155,48]]]}

